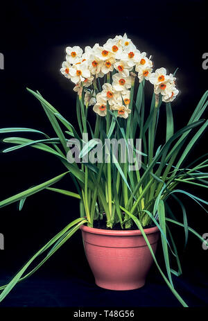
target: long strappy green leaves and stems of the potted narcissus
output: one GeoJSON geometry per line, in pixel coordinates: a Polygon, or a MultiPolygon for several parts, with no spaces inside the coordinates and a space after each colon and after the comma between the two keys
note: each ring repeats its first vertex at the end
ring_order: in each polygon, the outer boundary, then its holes
{"type": "MultiPolygon", "coordinates": [[[[110,77],[109,77],[110,79],[110,77]]],[[[47,189],[56,193],[62,193],[65,196],[78,198],[80,200],[80,218],[73,221],[68,227],[60,234],[55,236],[49,243],[47,243],[39,252],[37,252],[31,260],[17,273],[17,275],[6,286],[2,286],[0,289],[4,289],[0,295],[0,301],[10,292],[10,290],[22,279],[26,279],[37,268],[40,268],[46,259],[49,259],[51,255],[60,248],[60,246],[67,241],[71,235],[76,232],[80,225],[87,223],[87,225],[93,227],[94,220],[100,218],[105,213],[107,219],[107,227],[114,227],[116,223],[120,223],[121,228],[125,229],[130,227],[133,222],[141,230],[148,248],[150,249],[153,259],[162,274],[164,281],[174,293],[175,297],[182,303],[183,306],[187,304],[182,300],[180,295],[176,292],[173,286],[172,275],[179,276],[182,273],[180,266],[180,259],[177,254],[177,248],[171,229],[168,223],[175,223],[184,227],[185,246],[187,245],[189,232],[192,232],[200,241],[205,241],[196,231],[191,229],[188,225],[187,212],[182,203],[182,200],[177,194],[184,194],[191,198],[191,200],[207,205],[207,201],[193,196],[188,191],[178,189],[178,184],[194,184],[196,186],[207,188],[208,173],[203,172],[204,168],[207,168],[207,159],[202,161],[200,157],[196,162],[186,167],[184,164],[187,160],[191,149],[196,144],[200,136],[207,128],[208,121],[201,119],[202,114],[205,112],[208,105],[206,92],[196,109],[193,111],[191,118],[184,128],[181,128],[177,132],[174,131],[174,109],[172,110],[171,103],[166,103],[166,132],[164,137],[160,139],[159,146],[155,146],[155,137],[157,137],[157,123],[159,120],[159,110],[162,106],[162,99],[159,98],[159,103],[155,103],[155,94],[153,94],[152,103],[150,107],[145,105],[145,80],[139,84],[136,90],[135,79],[132,81],[132,87],[130,91],[130,106],[131,114],[128,119],[120,119],[117,112],[112,112],[107,109],[107,116],[101,117],[96,115],[96,123],[89,123],[87,115],[91,112],[88,106],[85,106],[84,94],[81,94],[77,98],[76,102],[76,114],[78,117],[79,131],[75,130],[73,125],[62,116],[58,110],[47,102],[39,92],[33,92],[28,89],[35,98],[40,101],[46,116],[53,127],[53,130],[57,137],[50,138],[39,130],[33,130],[30,128],[3,128],[0,129],[1,134],[8,132],[29,133],[33,132],[37,135],[44,135],[44,138],[32,140],[21,137],[9,137],[3,139],[4,143],[14,144],[15,146],[8,147],[3,150],[3,153],[10,153],[19,148],[33,147],[51,153],[60,159],[60,162],[66,166],[67,171],[48,180],[37,186],[33,186],[26,191],[18,193],[15,196],[2,200],[0,207],[11,204],[12,202],[19,202],[19,210],[24,205],[26,198],[29,196],[47,189]],[[147,116],[145,113],[147,110],[147,116]],[[136,146],[136,138],[139,137],[142,140],[142,161],[141,168],[138,167],[137,162],[136,170],[130,171],[129,164],[127,162],[116,162],[116,158],[112,153],[112,146],[108,150],[108,162],[92,163],[88,162],[73,164],[67,161],[67,153],[71,153],[67,147],[68,136],[78,139],[82,146],[80,150],[80,157],[85,157],[91,150],[96,147],[95,141],[89,141],[89,144],[83,144],[83,130],[87,132],[90,138],[99,138],[102,141],[104,148],[104,140],[108,139],[125,139],[126,145],[128,139],[133,141],[133,156],[135,157],[139,153],[136,146]],[[193,166],[191,168],[191,166],[193,166]],[[59,182],[62,177],[70,174],[78,193],[66,191],[63,189],[53,188],[51,185],[59,182]],[[168,206],[168,198],[173,196],[182,209],[182,223],[177,222],[171,214],[171,209],[168,206]],[[162,237],[162,250],[164,253],[164,263],[166,266],[166,275],[159,267],[155,254],[148,242],[148,238],[145,234],[145,228],[153,223],[159,228],[159,232],[162,237]],[[51,245],[53,248],[48,252],[45,259],[43,259],[36,268],[27,275],[22,277],[28,266],[36,259],[42,252],[48,250],[51,245]],[[170,256],[173,255],[177,262],[178,271],[171,268],[170,256]]],[[[101,89],[101,83],[98,83],[98,88],[101,89]]],[[[94,89],[98,91],[96,83],[94,83],[94,89]]],[[[83,90],[84,93],[84,90],[83,90]]],[[[161,111],[160,111],[161,112],[161,111]]],[[[122,150],[118,148],[118,159],[121,159],[122,150]]],[[[205,155],[207,157],[207,155],[205,155]]],[[[203,207],[204,208],[204,207],[203,207]]],[[[206,209],[205,209],[206,210],[206,209]]]]}

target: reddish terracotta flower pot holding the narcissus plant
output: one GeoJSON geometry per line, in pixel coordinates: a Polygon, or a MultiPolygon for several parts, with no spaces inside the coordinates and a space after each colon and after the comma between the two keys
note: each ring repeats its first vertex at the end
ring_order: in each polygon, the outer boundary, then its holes
{"type": "MultiPolygon", "coordinates": [[[[133,290],[144,286],[153,257],[139,229],[96,229],[83,225],[85,254],[101,288],[133,290]]],[[[153,251],[156,251],[159,229],[144,230],[153,251]]]]}

